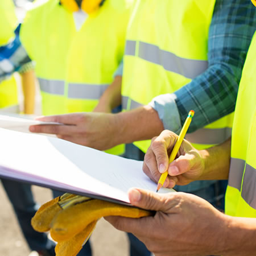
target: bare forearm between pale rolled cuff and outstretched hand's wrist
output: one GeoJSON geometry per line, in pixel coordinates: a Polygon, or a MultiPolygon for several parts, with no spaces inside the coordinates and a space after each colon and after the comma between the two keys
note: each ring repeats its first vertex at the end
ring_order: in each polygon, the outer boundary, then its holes
{"type": "Polygon", "coordinates": [[[163,123],[158,113],[150,106],[142,106],[115,115],[117,119],[117,144],[143,141],[158,136],[163,131],[163,123]]]}

